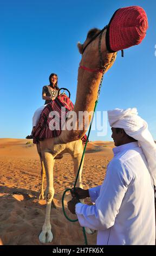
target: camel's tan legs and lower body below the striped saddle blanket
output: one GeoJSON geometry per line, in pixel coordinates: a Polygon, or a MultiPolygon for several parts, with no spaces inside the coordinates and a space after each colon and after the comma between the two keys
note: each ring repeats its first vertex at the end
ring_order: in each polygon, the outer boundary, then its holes
{"type": "MultiPolygon", "coordinates": [[[[45,139],[44,141],[37,144],[38,154],[40,155],[41,160],[41,176],[42,176],[42,186],[41,186],[41,194],[40,199],[44,199],[44,178],[47,178],[47,189],[45,192],[45,197],[47,200],[47,209],[46,209],[46,220],[42,227],[42,232],[39,236],[41,242],[51,242],[53,240],[53,234],[51,233],[51,224],[50,224],[50,208],[51,202],[55,207],[55,203],[53,202],[54,197],[54,186],[53,186],[53,167],[55,162],[55,157],[58,154],[69,153],[72,155],[72,159],[74,162],[74,174],[75,177],[77,175],[77,170],[79,169],[82,153],[83,153],[83,145],[82,140],[69,142],[66,144],[54,144],[54,139],[51,138],[45,139]],[[49,147],[50,142],[50,147],[49,147]]],[[[83,159],[84,161],[84,159],[83,159]]],[[[81,174],[82,174],[83,162],[80,169],[79,178],[77,180],[76,186],[83,188],[81,174]]],[[[73,181],[74,182],[74,181],[73,181]]],[[[73,183],[74,184],[74,183],[73,183]]],[[[89,230],[88,230],[89,231],[89,230]]]]}

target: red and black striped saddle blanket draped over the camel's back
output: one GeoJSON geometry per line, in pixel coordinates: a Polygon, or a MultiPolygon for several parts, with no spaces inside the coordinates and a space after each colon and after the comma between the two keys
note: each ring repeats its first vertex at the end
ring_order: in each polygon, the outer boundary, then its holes
{"type": "MultiPolygon", "coordinates": [[[[33,137],[34,143],[37,141],[43,141],[43,139],[54,138],[60,135],[61,125],[66,122],[66,114],[68,111],[72,111],[74,105],[66,94],[61,94],[56,97],[55,100],[48,103],[44,107],[40,121],[34,129],[33,137]],[[63,109],[62,109],[63,107],[63,109]]],[[[82,138],[83,142],[86,142],[85,138],[82,138]]]]}

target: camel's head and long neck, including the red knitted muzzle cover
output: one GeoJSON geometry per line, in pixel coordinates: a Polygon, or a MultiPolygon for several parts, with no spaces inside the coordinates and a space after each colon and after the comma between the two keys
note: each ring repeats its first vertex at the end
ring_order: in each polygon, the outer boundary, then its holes
{"type": "Polygon", "coordinates": [[[120,8],[115,11],[108,26],[90,29],[85,42],[77,44],[82,58],[73,110],[77,117],[74,120],[76,129],[64,129],[59,137],[61,143],[76,141],[85,135],[91,117],[89,115],[89,121],[86,121],[85,118],[79,118],[79,113],[93,112],[104,67],[106,73],[113,65],[118,51],[140,44],[147,28],[144,9],[138,6],[120,8]]]}

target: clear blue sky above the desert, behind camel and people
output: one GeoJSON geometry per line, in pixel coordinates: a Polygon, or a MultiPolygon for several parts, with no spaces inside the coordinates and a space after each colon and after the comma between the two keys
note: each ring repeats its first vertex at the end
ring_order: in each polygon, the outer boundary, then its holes
{"type": "MultiPolygon", "coordinates": [[[[107,25],[116,9],[129,5],[145,9],[147,35],[140,45],[125,50],[124,58],[118,53],[104,77],[97,111],[137,107],[156,139],[154,0],[1,0],[1,138],[30,134],[32,115],[44,104],[42,87],[51,72],[59,76],[59,87],[68,88],[75,102],[81,59],[77,42],[85,41],[90,28],[107,25]]],[[[92,131],[90,140],[111,140],[111,129],[102,137],[92,131]]]]}

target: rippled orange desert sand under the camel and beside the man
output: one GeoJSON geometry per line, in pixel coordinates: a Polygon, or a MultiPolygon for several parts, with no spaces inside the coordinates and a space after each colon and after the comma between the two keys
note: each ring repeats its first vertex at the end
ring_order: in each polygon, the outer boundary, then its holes
{"type": "MultiPolygon", "coordinates": [[[[38,235],[46,213],[46,200],[38,200],[41,167],[35,144],[28,139],[0,139],[0,245],[42,245],[38,235]]],[[[108,162],[113,157],[113,142],[89,142],[82,172],[84,188],[101,185],[108,162]]],[[[73,161],[65,154],[55,161],[54,188],[56,209],[51,208],[54,239],[47,245],[84,245],[79,222],[69,222],[63,215],[61,198],[74,184],[73,161]]],[[[46,181],[45,181],[46,185],[46,181]]],[[[70,218],[67,202],[64,205],[70,218]]],[[[87,202],[89,203],[89,202],[87,202]]],[[[88,245],[96,245],[96,234],[87,235],[88,245]]]]}

